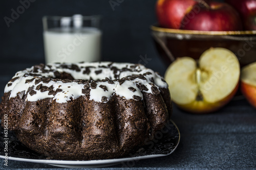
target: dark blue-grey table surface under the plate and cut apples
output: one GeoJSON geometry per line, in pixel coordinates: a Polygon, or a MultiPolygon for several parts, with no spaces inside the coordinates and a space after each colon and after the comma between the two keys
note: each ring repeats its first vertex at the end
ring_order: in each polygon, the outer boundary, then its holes
{"type": "MultiPolygon", "coordinates": [[[[0,63],[0,94],[16,71],[38,64],[39,61],[3,61],[0,63]]],[[[163,74],[161,63],[149,65],[163,74]]],[[[221,110],[205,115],[189,114],[174,105],[172,116],[181,139],[174,153],[135,162],[125,169],[256,169],[256,109],[243,97],[234,98],[221,110]]],[[[59,167],[9,160],[0,168],[59,167]]],[[[122,165],[103,169],[124,168],[122,165]]],[[[101,168],[102,169],[102,168],[101,168]]]]}

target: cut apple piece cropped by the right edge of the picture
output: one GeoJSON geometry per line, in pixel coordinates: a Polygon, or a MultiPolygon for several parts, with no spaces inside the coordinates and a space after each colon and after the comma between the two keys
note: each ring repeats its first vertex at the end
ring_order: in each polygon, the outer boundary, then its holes
{"type": "Polygon", "coordinates": [[[247,101],[256,108],[256,62],[241,69],[241,91],[247,101]]]}

